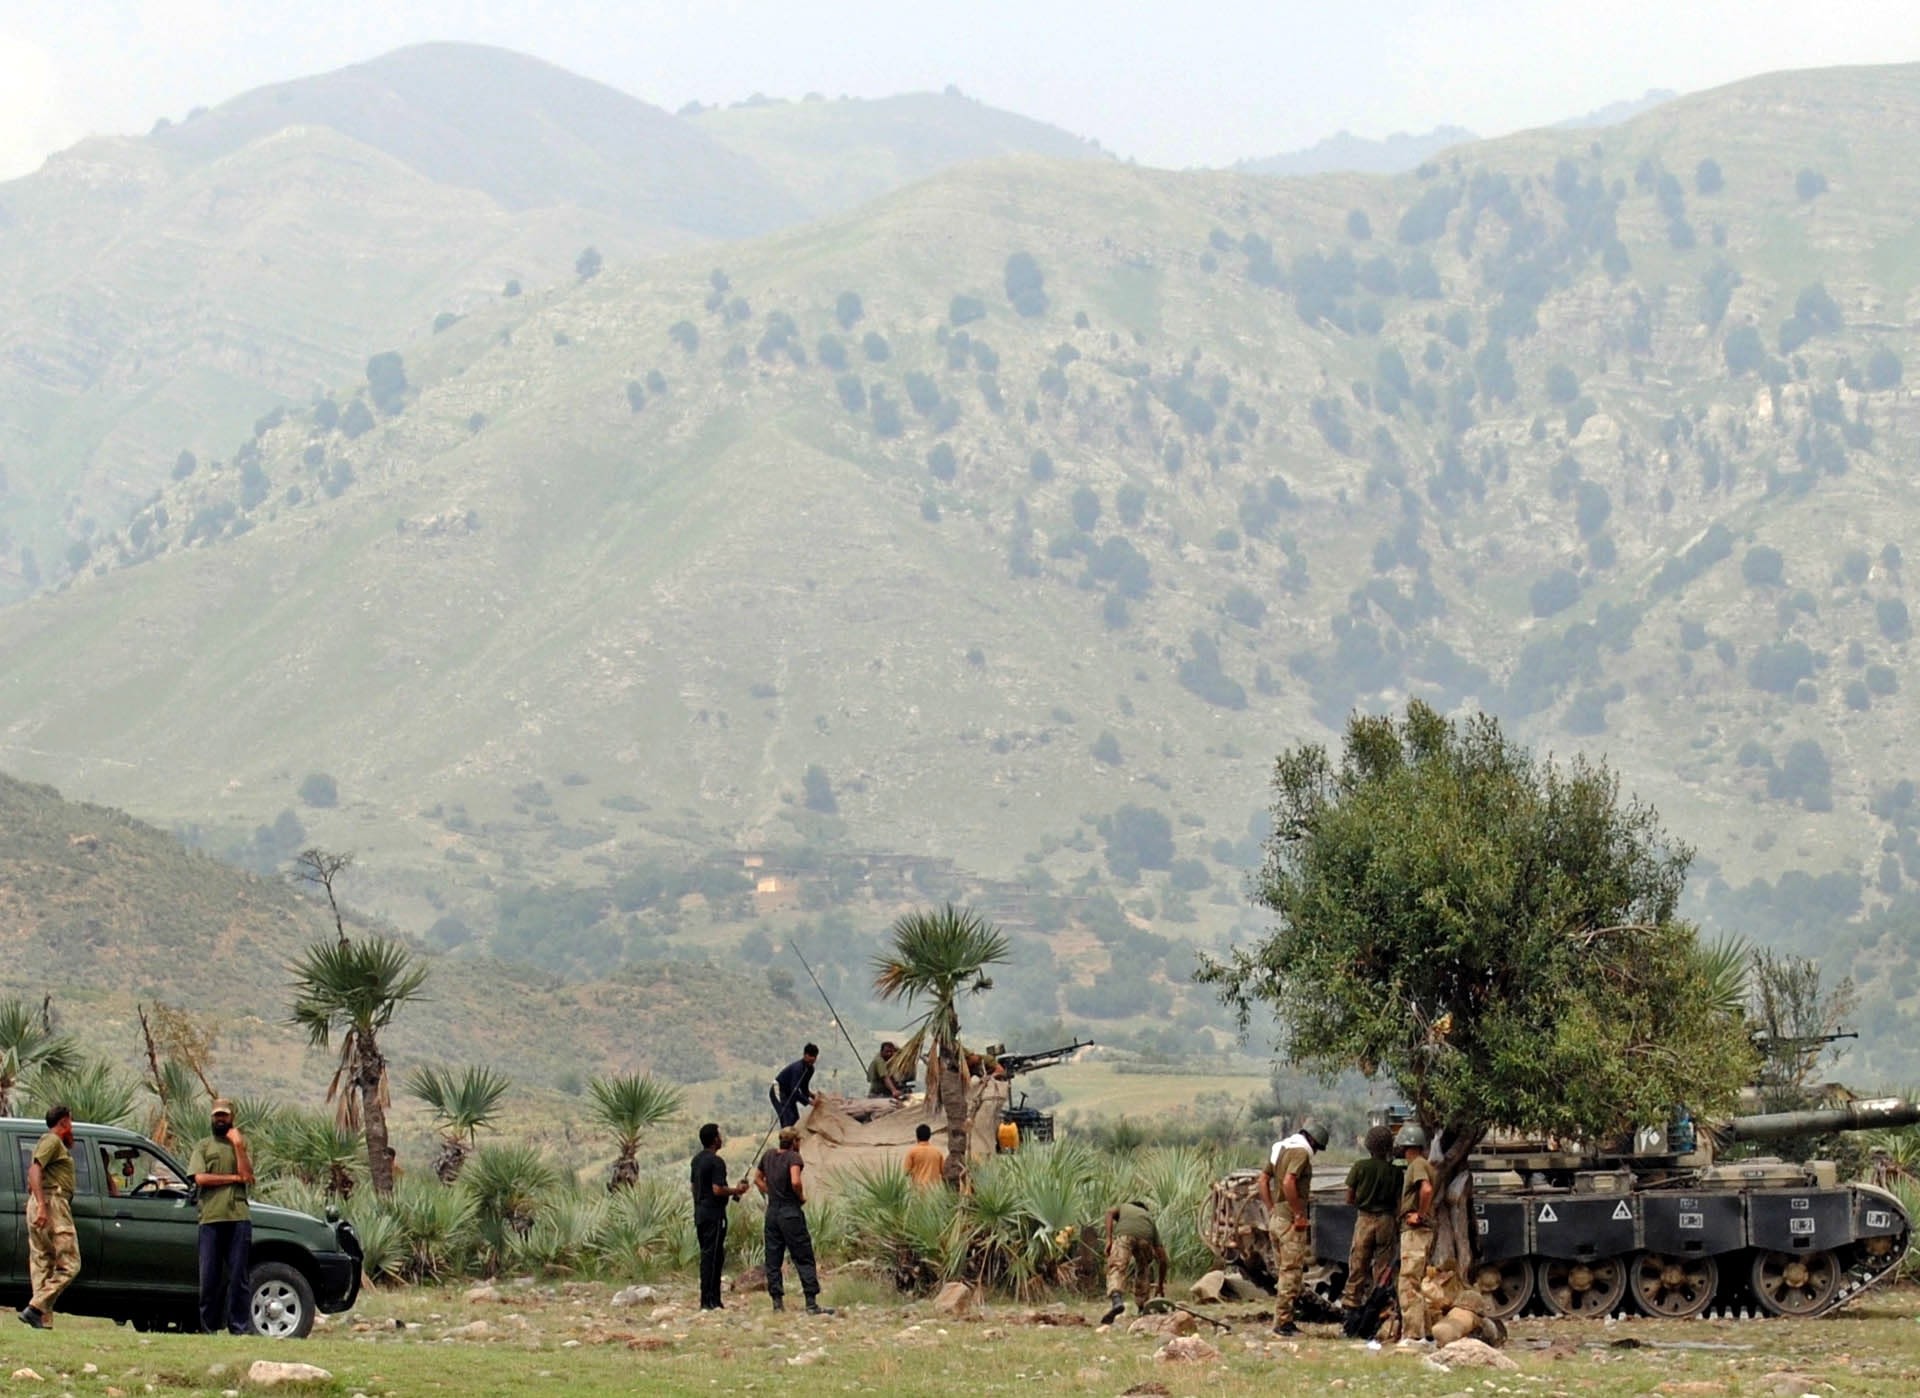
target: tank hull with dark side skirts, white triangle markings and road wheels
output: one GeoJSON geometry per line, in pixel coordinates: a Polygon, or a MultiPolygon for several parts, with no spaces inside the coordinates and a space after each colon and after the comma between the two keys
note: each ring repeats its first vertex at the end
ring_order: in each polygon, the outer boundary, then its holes
{"type": "MultiPolygon", "coordinates": [[[[1482,1189],[1467,1217],[1473,1281],[1501,1319],[1524,1310],[1826,1315],[1891,1277],[1912,1241],[1899,1198],[1859,1183],[1482,1189]]],[[[1200,1225],[1223,1264],[1273,1285],[1258,1171],[1215,1183],[1200,1225]]],[[[1308,1290],[1327,1315],[1338,1306],[1352,1237],[1354,1210],[1315,1194],[1308,1290]]]]}

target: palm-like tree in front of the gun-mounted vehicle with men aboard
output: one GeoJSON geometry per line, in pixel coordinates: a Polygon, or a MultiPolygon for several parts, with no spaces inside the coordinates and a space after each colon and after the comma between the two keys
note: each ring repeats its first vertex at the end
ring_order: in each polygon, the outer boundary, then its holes
{"type": "Polygon", "coordinates": [[[993,989],[989,966],[1008,958],[1006,935],[972,908],[908,912],[893,924],[891,947],[874,958],[874,993],[881,1000],[925,1002],[899,1060],[925,1058],[927,1083],[947,1108],[947,1181],[966,1177],[966,1048],[960,1045],[960,997],[993,989]]]}

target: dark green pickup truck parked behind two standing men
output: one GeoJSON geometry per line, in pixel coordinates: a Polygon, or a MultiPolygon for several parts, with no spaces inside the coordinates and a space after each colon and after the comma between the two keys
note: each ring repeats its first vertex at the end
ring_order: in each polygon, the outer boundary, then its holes
{"type": "MultiPolygon", "coordinates": [[[[0,1296],[12,1308],[27,1304],[27,1166],[44,1133],[42,1121],[0,1118],[0,1296]]],[[[142,1135],[79,1121],[73,1166],[81,1275],[56,1312],[142,1331],[198,1329],[200,1217],[186,1168],[142,1135]]],[[[359,1296],[353,1225],[253,1204],[250,1285],[253,1331],[303,1338],[315,1312],[344,1312],[359,1296]]]]}

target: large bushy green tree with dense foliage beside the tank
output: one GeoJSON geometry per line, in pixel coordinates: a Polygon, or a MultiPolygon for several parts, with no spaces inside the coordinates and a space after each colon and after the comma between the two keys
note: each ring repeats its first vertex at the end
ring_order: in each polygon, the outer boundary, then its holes
{"type": "MultiPolygon", "coordinates": [[[[1751,1068],[1738,997],[1676,916],[1692,851],[1605,764],[1536,760],[1488,716],[1348,720],[1279,757],[1256,901],[1273,931],[1200,977],[1277,1014],[1277,1048],[1394,1085],[1438,1185],[1488,1131],[1607,1139],[1751,1068]]],[[[1463,1210],[1438,1258],[1461,1256],[1463,1210]]]]}

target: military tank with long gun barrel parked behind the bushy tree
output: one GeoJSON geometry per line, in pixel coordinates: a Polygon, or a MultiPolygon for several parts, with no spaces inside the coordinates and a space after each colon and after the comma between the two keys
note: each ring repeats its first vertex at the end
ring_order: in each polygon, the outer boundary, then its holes
{"type": "MultiPolygon", "coordinates": [[[[1375,1114],[1390,1121],[1392,1114],[1375,1114]]],[[[1697,1127],[1686,1114],[1594,1148],[1494,1137],[1469,1160],[1473,1285],[1492,1315],[1645,1315],[1713,1312],[1811,1317],[1845,1306],[1907,1256],[1912,1219],[1887,1189],[1841,1181],[1830,1160],[1722,1160],[1732,1143],[1766,1143],[1920,1121],[1899,1098],[1736,1116],[1697,1127]]],[[[1313,1189],[1308,1292],[1332,1315],[1346,1281],[1354,1210],[1344,1171],[1313,1189]]],[[[1227,1265],[1273,1285],[1260,1171],[1213,1185],[1200,1235],[1227,1265]]]]}

